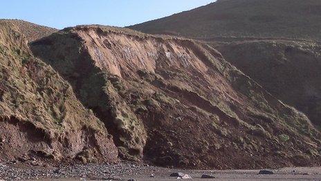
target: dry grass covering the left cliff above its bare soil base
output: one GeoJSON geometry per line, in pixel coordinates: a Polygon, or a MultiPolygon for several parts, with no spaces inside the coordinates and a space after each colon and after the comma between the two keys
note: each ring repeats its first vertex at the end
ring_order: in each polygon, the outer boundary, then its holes
{"type": "Polygon", "coordinates": [[[28,121],[48,133],[92,128],[106,134],[93,112],[77,101],[71,86],[33,57],[21,25],[0,24],[0,117],[28,121]]]}

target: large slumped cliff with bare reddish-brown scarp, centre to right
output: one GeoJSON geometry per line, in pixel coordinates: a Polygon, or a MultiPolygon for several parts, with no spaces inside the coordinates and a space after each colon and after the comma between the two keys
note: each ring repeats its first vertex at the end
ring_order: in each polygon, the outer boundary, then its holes
{"type": "Polygon", "coordinates": [[[320,133],[216,50],[103,26],[30,44],[113,135],[120,157],[161,166],[315,165],[320,133]]]}

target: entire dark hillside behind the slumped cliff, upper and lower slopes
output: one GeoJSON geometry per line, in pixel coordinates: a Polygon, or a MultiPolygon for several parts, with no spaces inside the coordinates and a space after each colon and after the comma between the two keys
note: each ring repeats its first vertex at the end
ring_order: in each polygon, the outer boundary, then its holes
{"type": "Polygon", "coordinates": [[[314,0],[221,0],[129,28],[206,42],[320,127],[320,12],[314,0]]]}

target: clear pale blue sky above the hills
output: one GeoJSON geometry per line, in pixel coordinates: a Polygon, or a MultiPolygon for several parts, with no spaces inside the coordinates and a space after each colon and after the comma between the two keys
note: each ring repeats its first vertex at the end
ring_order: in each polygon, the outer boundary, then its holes
{"type": "Polygon", "coordinates": [[[204,6],[215,0],[4,0],[0,19],[65,28],[79,24],[129,26],[204,6]]]}

